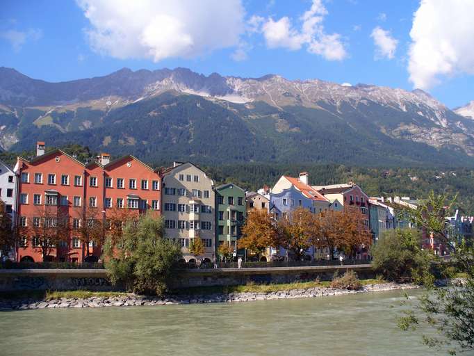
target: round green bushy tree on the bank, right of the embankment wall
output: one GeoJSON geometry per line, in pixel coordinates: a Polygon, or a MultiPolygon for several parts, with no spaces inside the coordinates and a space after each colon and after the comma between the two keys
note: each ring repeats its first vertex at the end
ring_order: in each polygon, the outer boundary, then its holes
{"type": "Polygon", "coordinates": [[[430,266],[433,254],[421,248],[421,235],[416,229],[395,229],[384,232],[370,250],[373,268],[387,280],[414,280],[432,284],[430,266]]]}

